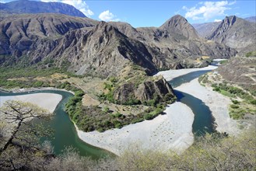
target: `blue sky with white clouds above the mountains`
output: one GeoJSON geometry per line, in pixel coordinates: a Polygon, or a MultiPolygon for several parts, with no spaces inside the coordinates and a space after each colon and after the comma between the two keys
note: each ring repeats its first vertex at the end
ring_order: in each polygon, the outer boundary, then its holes
{"type": "MultiPolygon", "coordinates": [[[[0,0],[11,2],[13,0],[0,0]]],[[[208,23],[224,19],[225,16],[246,18],[256,16],[256,0],[231,1],[177,1],[177,0],[37,0],[42,2],[63,2],[75,6],[87,17],[103,21],[121,21],[134,27],[161,26],[177,14],[189,23],[208,23]]]]}

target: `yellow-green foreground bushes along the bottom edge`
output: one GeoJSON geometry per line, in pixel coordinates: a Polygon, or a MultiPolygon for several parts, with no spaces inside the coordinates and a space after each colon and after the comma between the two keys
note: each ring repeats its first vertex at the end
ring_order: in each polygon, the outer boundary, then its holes
{"type": "MultiPolygon", "coordinates": [[[[194,145],[177,155],[132,145],[115,159],[98,161],[82,157],[72,148],[64,155],[47,159],[34,157],[26,170],[254,170],[256,166],[256,131],[234,137],[206,134],[196,138],[194,145]]],[[[159,147],[160,148],[160,147],[159,147]]]]}

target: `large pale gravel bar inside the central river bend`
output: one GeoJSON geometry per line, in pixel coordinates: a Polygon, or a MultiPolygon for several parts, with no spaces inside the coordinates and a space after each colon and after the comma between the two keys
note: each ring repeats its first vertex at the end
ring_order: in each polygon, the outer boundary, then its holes
{"type": "Polygon", "coordinates": [[[163,152],[170,149],[181,152],[194,141],[192,133],[194,113],[188,106],[179,102],[168,106],[165,113],[167,114],[153,120],[145,120],[103,133],[77,131],[82,141],[117,155],[134,144],[163,152]]]}

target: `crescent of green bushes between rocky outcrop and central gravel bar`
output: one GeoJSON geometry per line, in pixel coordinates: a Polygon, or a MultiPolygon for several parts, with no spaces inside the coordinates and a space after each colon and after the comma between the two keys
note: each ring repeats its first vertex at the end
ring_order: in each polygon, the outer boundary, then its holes
{"type": "Polygon", "coordinates": [[[152,120],[163,113],[164,107],[150,107],[137,115],[124,115],[120,112],[113,112],[106,107],[82,106],[79,96],[69,99],[65,105],[71,119],[82,131],[107,131],[112,128],[121,128],[128,124],[135,124],[143,120],[152,120]]]}

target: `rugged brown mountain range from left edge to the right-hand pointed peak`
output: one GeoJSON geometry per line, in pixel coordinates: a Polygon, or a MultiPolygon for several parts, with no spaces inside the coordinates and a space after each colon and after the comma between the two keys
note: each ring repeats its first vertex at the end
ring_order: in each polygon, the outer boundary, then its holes
{"type": "Polygon", "coordinates": [[[12,15],[0,21],[0,33],[0,65],[51,61],[79,75],[116,75],[131,63],[151,75],[157,70],[205,66],[203,56],[230,58],[237,53],[198,37],[182,16],[159,28],[135,29],[128,23],[60,14],[12,15]]]}

